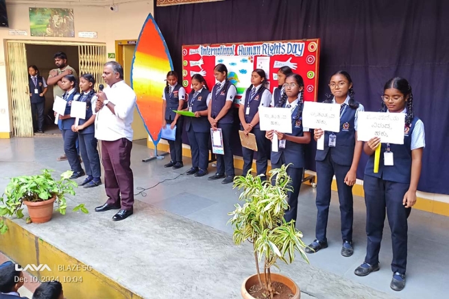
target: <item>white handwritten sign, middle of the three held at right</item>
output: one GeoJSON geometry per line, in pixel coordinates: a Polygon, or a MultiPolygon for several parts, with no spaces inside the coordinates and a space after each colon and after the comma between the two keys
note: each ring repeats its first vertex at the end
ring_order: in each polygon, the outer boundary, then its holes
{"type": "Polygon", "coordinates": [[[305,128],[321,129],[323,131],[340,131],[340,105],[304,102],[302,123],[305,128]]]}

